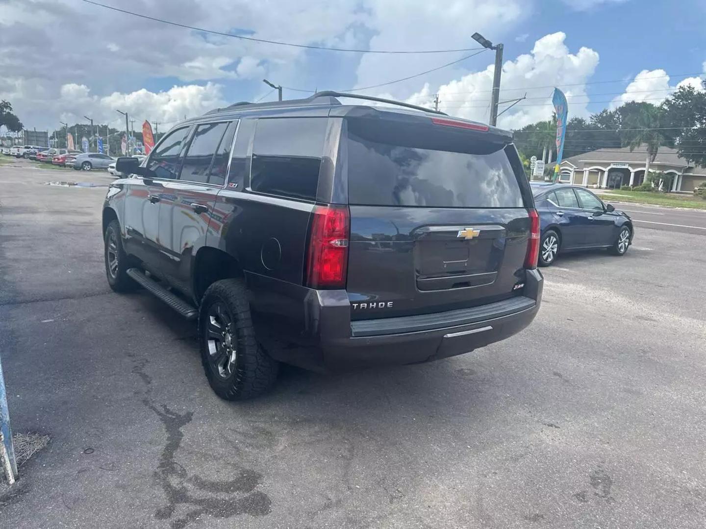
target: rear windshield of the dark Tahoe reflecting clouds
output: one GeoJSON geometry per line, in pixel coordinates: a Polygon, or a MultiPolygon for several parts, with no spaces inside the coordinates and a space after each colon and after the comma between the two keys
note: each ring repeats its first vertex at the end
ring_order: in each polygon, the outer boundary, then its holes
{"type": "Polygon", "coordinates": [[[513,146],[465,130],[376,121],[348,120],[349,203],[523,207],[513,146]]]}

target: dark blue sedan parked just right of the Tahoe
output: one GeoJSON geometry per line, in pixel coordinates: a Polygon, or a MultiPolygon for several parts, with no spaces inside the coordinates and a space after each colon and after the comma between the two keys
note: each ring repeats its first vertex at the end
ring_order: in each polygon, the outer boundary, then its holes
{"type": "Polygon", "coordinates": [[[625,255],[635,230],[627,214],[585,188],[563,183],[532,183],[539,212],[539,266],[548,267],[560,252],[606,248],[625,255]]]}

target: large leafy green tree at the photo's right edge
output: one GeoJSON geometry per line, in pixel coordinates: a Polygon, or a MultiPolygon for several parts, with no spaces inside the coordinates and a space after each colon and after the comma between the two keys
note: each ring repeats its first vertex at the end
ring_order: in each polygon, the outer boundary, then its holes
{"type": "Polygon", "coordinates": [[[706,167],[706,80],[702,85],[703,90],[680,87],[662,107],[679,156],[706,167]]]}

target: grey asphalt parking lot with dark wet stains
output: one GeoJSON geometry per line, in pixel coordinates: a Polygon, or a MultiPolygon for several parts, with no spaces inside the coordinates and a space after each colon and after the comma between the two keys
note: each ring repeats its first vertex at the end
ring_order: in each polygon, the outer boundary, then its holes
{"type": "Polygon", "coordinates": [[[109,290],[105,188],[41,185],[107,174],[28,165],[0,166],[0,353],[51,441],[1,527],[706,526],[706,230],[559,257],[507,341],[227,403],[190,324],[109,290]]]}

